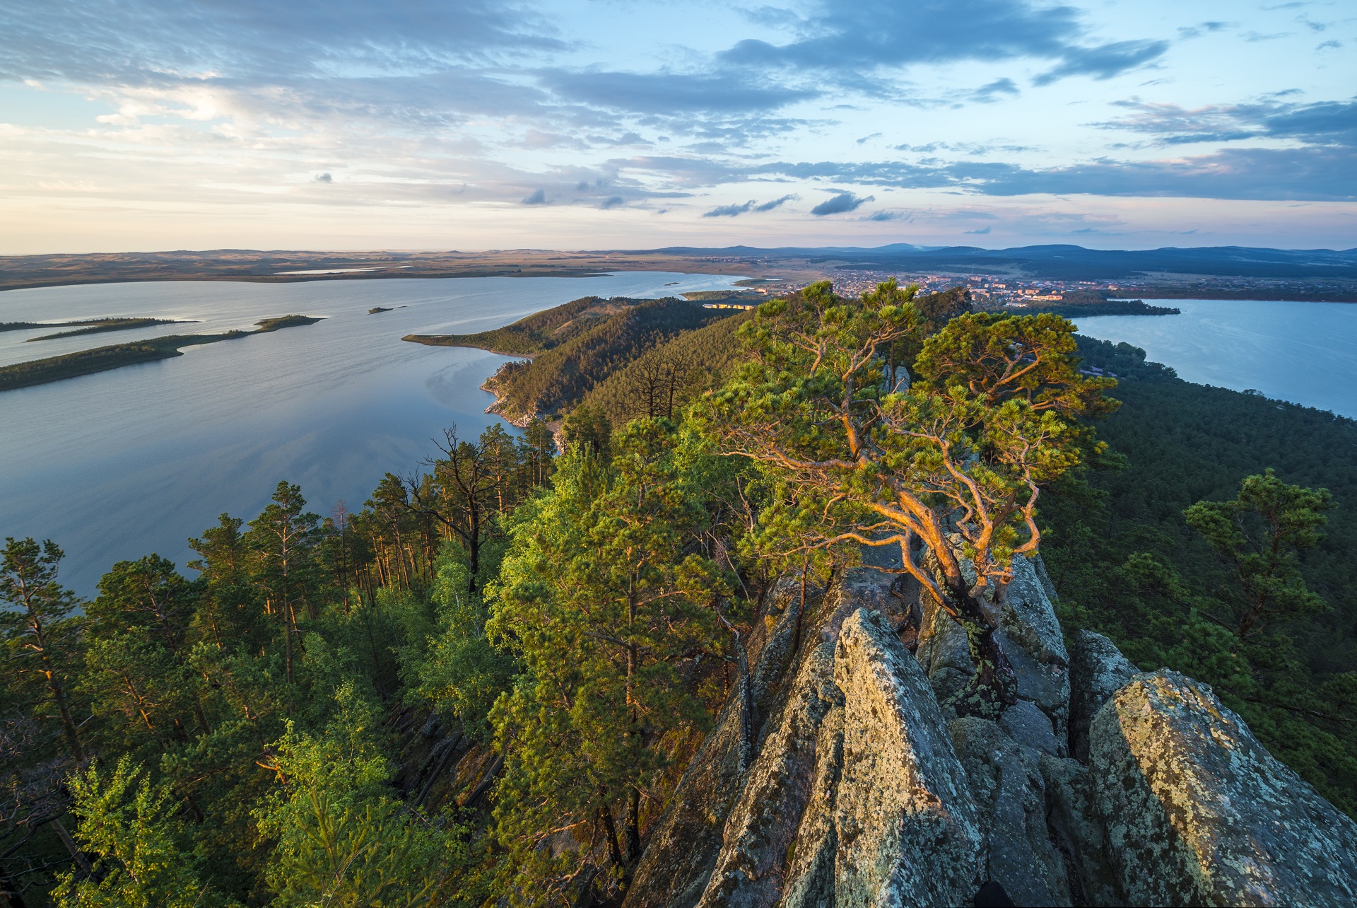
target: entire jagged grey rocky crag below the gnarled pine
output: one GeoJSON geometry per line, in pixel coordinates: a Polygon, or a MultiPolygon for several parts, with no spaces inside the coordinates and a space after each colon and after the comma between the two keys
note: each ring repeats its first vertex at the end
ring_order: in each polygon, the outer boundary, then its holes
{"type": "Polygon", "coordinates": [[[626,908],[1357,900],[1357,824],[1208,685],[1067,647],[1039,561],[995,603],[995,719],[958,718],[966,637],[892,580],[773,588],[626,908]]]}

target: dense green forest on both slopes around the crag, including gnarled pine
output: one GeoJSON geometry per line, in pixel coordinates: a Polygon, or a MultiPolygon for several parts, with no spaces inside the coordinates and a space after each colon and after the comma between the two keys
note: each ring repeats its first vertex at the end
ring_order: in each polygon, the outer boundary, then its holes
{"type": "MultiPolygon", "coordinates": [[[[280,482],[189,565],[119,562],[87,601],[12,528],[0,892],[619,904],[779,575],[904,540],[989,651],[949,533],[1000,588],[1039,543],[1067,630],[1215,684],[1353,813],[1357,425],[970,309],[821,284],[757,314],[627,307],[548,350],[579,312],[539,319],[532,368],[601,338],[551,371],[588,381],[525,396],[569,411],[559,434],[451,428],[353,513],[280,482]]],[[[991,666],[958,710],[1007,696],[991,666]]]]}

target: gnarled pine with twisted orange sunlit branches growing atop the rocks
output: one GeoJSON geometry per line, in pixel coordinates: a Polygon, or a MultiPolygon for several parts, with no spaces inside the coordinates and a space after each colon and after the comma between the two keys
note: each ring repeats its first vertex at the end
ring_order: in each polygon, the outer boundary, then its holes
{"type": "Polygon", "coordinates": [[[1080,418],[1115,407],[1102,398],[1115,381],[1079,372],[1069,322],[993,314],[946,322],[906,380],[892,356],[923,334],[915,290],[890,281],[848,300],[821,282],[765,303],[741,328],[752,361],[708,399],[706,425],[778,475],[771,546],[898,547],[896,573],[970,639],[978,672],[958,708],[987,713],[1012,696],[993,638],[1012,558],[1041,542],[1041,487],[1101,453],[1080,418]]]}

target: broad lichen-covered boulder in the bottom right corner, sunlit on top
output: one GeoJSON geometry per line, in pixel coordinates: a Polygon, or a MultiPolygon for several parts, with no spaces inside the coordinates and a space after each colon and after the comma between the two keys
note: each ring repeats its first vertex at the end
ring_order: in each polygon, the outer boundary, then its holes
{"type": "Polygon", "coordinates": [[[1166,669],[1136,676],[1094,718],[1088,759],[1130,904],[1357,901],[1357,824],[1208,685],[1166,669]]]}

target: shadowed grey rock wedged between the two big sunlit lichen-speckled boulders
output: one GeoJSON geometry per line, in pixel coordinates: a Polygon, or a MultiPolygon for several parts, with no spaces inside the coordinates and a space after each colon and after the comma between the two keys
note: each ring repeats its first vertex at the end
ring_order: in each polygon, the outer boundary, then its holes
{"type": "MultiPolygon", "coordinates": [[[[1030,708],[1050,736],[1045,715],[1030,708]]],[[[1041,755],[978,717],[951,722],[951,734],[985,831],[985,878],[1019,905],[1072,904],[1065,860],[1046,828],[1041,755]]]]}

